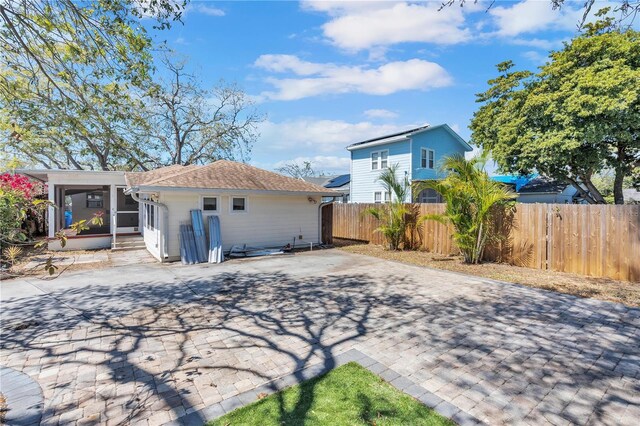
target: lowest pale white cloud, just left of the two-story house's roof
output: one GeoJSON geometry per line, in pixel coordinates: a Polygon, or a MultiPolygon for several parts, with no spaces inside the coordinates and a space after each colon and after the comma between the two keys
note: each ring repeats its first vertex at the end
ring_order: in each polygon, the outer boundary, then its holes
{"type": "MultiPolygon", "coordinates": [[[[287,151],[291,152],[291,157],[335,154],[352,143],[412,127],[417,125],[317,119],[297,119],[279,123],[266,121],[260,125],[260,139],[255,150],[264,150],[265,153],[287,151]]],[[[346,153],[346,150],[343,152],[346,153]]]]}

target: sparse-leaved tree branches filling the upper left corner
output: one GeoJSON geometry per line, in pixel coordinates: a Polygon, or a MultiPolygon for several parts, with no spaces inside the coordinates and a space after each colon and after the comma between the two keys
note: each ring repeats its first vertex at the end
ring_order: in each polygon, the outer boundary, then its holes
{"type": "Polygon", "coordinates": [[[0,2],[3,147],[44,167],[146,168],[136,112],[153,70],[143,16],[167,27],[173,0],[0,2]]]}

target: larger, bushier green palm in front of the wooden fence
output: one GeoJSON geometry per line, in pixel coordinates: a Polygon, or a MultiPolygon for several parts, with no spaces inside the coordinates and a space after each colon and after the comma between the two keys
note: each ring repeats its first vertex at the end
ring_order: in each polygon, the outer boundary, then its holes
{"type": "Polygon", "coordinates": [[[425,181],[416,191],[426,188],[440,193],[445,202],[443,214],[425,215],[421,220],[450,223],[453,238],[466,263],[479,263],[487,243],[494,238],[493,221],[501,207],[512,205],[515,194],[492,180],[484,170],[486,159],[466,160],[462,155],[446,157],[443,180],[425,181]]]}

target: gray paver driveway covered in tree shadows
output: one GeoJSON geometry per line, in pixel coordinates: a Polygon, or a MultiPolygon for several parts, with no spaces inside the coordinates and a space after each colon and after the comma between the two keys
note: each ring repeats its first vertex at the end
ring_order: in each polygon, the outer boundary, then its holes
{"type": "Polygon", "coordinates": [[[1,285],[0,363],[44,424],[159,425],[351,348],[490,424],[640,418],[622,305],[336,250],[1,285]]]}

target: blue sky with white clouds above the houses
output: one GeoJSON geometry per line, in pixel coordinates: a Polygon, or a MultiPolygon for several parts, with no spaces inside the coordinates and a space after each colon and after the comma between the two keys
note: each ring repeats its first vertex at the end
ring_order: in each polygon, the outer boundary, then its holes
{"type": "MultiPolygon", "coordinates": [[[[236,82],[266,121],[251,163],[348,171],[345,147],[447,123],[468,140],[475,94],[511,59],[534,70],[576,34],[582,1],[198,2],[154,33],[208,85],[236,82]]],[[[598,2],[595,10],[606,6],[598,2]]]]}

